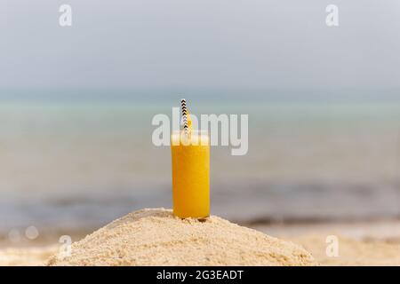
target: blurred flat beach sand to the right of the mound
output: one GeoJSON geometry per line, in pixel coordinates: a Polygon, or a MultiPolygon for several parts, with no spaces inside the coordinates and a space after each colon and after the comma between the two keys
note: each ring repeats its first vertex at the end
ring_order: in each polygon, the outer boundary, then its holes
{"type": "Polygon", "coordinates": [[[254,228],[301,245],[322,265],[400,265],[399,221],[258,225],[254,228]],[[337,256],[326,253],[332,236],[338,241],[337,256]]]}

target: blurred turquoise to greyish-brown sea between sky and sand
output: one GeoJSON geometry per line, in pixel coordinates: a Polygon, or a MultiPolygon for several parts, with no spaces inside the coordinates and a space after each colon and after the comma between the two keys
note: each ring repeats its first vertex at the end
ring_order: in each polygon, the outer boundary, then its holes
{"type": "MultiPolygon", "coordinates": [[[[180,95],[93,98],[1,99],[0,233],[79,230],[172,207],[170,149],[152,144],[151,120],[171,116],[180,95]]],[[[188,96],[188,106],[249,114],[248,154],[212,147],[212,214],[240,223],[400,217],[400,98],[188,96]]]]}

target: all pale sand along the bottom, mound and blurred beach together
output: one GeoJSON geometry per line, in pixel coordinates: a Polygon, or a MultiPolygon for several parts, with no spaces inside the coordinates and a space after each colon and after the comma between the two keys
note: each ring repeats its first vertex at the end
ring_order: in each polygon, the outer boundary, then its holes
{"type": "Polygon", "coordinates": [[[132,212],[74,243],[71,257],[59,259],[60,244],[44,243],[0,248],[0,264],[400,265],[400,222],[255,225],[255,231],[219,217],[182,225],[171,211],[152,210],[132,212]],[[332,236],[338,256],[326,252],[332,236]]]}

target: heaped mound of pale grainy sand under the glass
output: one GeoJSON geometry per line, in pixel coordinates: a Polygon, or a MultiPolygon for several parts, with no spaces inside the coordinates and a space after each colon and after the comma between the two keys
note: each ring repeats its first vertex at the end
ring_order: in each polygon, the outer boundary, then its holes
{"type": "Polygon", "coordinates": [[[201,222],[142,209],[72,244],[47,265],[315,265],[303,248],[220,217],[201,222]]]}

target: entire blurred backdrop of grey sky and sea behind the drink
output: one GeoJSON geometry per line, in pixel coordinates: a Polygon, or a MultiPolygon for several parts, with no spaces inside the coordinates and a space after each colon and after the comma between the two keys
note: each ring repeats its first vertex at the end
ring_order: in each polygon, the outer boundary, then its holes
{"type": "Polygon", "coordinates": [[[328,4],[1,0],[0,240],[171,208],[151,120],[182,97],[194,114],[249,114],[248,154],[212,147],[212,214],[398,219],[400,2],[336,0],[333,28],[328,4]]]}

